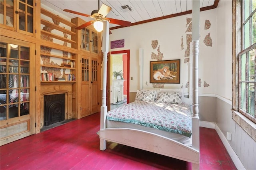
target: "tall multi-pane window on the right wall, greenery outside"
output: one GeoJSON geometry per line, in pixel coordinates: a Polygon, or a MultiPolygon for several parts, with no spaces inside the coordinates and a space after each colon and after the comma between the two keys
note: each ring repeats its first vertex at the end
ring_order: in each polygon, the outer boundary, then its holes
{"type": "MultiPolygon", "coordinates": [[[[237,1],[241,7],[240,17],[236,12],[236,21],[241,23],[236,38],[236,52],[238,53],[238,111],[256,123],[256,0],[237,1]],[[241,49],[241,50],[239,50],[241,49]]],[[[234,83],[234,82],[233,82],[234,83]]],[[[233,86],[234,87],[234,86],[233,86]]]]}

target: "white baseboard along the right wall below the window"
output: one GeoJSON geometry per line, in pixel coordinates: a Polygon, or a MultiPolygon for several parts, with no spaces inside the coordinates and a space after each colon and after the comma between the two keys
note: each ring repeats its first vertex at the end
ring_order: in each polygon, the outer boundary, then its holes
{"type": "Polygon", "coordinates": [[[242,162],[240,161],[240,159],[238,158],[238,156],[236,155],[236,152],[233,150],[233,148],[230,146],[228,140],[226,139],[225,135],[222,133],[222,131],[220,130],[220,128],[218,127],[218,125],[215,125],[215,130],[218,133],[220,140],[222,141],[222,143],[224,144],[226,150],[228,151],[228,154],[230,155],[232,161],[234,162],[236,168],[238,170],[246,170],[242,164],[242,162]]]}

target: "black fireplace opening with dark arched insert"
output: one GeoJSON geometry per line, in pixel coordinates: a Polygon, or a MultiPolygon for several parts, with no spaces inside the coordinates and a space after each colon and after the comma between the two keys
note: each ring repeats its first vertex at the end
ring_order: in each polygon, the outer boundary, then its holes
{"type": "Polygon", "coordinates": [[[44,126],[65,120],[65,94],[44,95],[44,126]]]}

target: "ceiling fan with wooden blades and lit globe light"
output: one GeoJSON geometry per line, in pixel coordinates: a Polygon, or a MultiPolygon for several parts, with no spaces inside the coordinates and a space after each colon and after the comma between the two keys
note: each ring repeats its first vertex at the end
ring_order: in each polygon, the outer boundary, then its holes
{"type": "Polygon", "coordinates": [[[103,22],[102,21],[108,21],[111,24],[118,24],[121,26],[130,26],[131,25],[131,22],[129,22],[129,21],[117,20],[114,18],[106,18],[106,15],[111,11],[112,8],[105,4],[102,4],[102,6],[100,8],[99,7],[100,7],[100,0],[98,0],[98,10],[93,10],[91,15],[83,14],[83,13],[68,10],[68,9],[64,9],[63,11],[70,12],[73,14],[78,14],[81,16],[90,17],[90,18],[94,19],[89,22],[86,22],[85,24],[82,24],[81,26],[76,27],[76,29],[78,29],[78,30],[81,30],[82,28],[85,28],[85,27],[93,24],[96,31],[101,32],[103,30],[103,22]]]}

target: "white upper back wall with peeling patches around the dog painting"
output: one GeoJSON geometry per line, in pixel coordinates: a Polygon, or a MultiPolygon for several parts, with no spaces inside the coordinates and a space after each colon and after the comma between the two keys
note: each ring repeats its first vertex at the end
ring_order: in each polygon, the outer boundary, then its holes
{"type": "MultiPolygon", "coordinates": [[[[136,26],[120,28],[111,30],[110,41],[124,39],[124,47],[110,49],[111,51],[119,51],[130,49],[130,91],[139,89],[140,79],[138,73],[138,55],[139,48],[144,49],[143,59],[143,87],[152,88],[150,84],[150,61],[151,53],[158,53],[156,49],[151,46],[152,40],[158,40],[160,52],[163,53],[162,60],[181,59],[180,84],[165,84],[165,87],[185,87],[189,80],[188,63],[184,63],[184,54],[186,49],[186,18],[191,18],[192,14],[185,16],[178,16],[156,22],[149,22],[136,26]],[[184,49],[181,49],[181,38],[183,36],[184,49]],[[146,85],[147,83],[147,85],[146,85]]],[[[199,87],[199,93],[216,94],[216,9],[208,10],[200,13],[200,42],[199,42],[199,78],[202,79],[202,87],[199,87]],[[204,30],[205,20],[210,20],[211,27],[204,30]],[[203,40],[210,32],[212,38],[212,47],[207,47],[203,40]],[[204,81],[208,83],[209,87],[204,87],[204,81]]],[[[190,50],[190,54],[192,50],[190,50]]],[[[187,89],[185,89],[186,93],[187,89]]]]}

